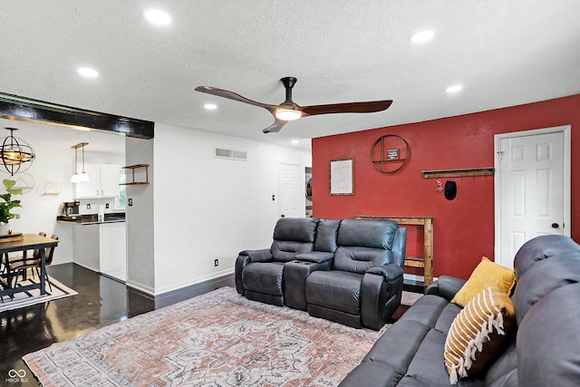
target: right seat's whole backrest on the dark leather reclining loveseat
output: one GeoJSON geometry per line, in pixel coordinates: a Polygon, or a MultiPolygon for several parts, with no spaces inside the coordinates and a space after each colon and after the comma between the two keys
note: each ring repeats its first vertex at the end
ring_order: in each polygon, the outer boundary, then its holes
{"type": "Polygon", "coordinates": [[[338,229],[333,270],[363,274],[392,262],[397,223],[386,219],[344,219],[338,229]]]}

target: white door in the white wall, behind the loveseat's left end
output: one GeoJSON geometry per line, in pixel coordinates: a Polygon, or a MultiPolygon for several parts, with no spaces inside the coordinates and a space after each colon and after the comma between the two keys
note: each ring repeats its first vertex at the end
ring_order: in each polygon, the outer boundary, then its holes
{"type": "Polygon", "coordinates": [[[304,188],[300,166],[278,164],[278,192],[280,216],[304,218],[304,188]]]}

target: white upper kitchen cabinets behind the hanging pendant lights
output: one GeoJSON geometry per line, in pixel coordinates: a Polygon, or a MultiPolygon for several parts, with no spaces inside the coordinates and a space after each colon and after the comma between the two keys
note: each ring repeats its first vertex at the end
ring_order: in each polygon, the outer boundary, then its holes
{"type": "Polygon", "coordinates": [[[76,198],[113,198],[119,196],[121,167],[116,164],[85,164],[89,181],[75,183],[76,198]]]}

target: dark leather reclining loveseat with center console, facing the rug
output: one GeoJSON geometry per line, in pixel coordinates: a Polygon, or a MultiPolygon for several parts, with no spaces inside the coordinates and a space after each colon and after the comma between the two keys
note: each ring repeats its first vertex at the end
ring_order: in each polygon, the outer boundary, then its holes
{"type": "Polygon", "coordinates": [[[378,330],[401,304],[405,243],[391,220],[281,218],[270,248],[237,257],[237,292],[378,330]]]}

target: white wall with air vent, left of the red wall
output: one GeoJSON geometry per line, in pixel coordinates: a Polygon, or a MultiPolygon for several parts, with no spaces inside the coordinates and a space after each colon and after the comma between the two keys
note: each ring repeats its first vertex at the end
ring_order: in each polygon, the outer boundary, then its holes
{"type": "Polygon", "coordinates": [[[311,166],[307,150],[164,124],[154,155],[156,294],[233,273],[239,251],[270,247],[278,163],[311,166]],[[245,150],[247,161],[216,159],[214,147],[245,150]]]}

